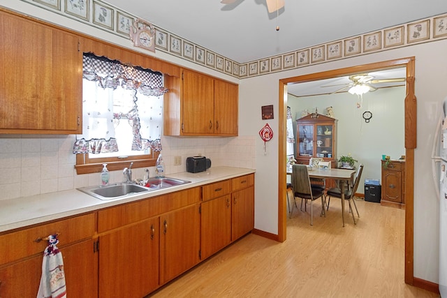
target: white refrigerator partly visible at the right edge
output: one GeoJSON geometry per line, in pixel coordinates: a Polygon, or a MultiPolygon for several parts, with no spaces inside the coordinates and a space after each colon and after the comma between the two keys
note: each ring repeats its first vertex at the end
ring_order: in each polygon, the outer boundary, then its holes
{"type": "Polygon", "coordinates": [[[447,98],[432,149],[434,185],[439,194],[439,292],[447,298],[447,98]]]}

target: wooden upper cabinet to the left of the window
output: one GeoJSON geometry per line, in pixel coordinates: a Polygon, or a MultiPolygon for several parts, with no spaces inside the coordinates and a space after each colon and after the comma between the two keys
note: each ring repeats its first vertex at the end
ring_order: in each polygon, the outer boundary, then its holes
{"type": "Polygon", "coordinates": [[[80,133],[78,36],[0,10],[0,133],[80,133]]]}

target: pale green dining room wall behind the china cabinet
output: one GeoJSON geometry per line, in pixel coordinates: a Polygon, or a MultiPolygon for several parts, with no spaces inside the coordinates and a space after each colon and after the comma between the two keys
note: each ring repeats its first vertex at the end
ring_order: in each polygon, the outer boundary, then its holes
{"type": "Polygon", "coordinates": [[[363,100],[348,92],[303,97],[289,94],[287,105],[294,120],[301,118],[303,110],[313,112],[317,107],[320,114],[325,114],[325,108],[332,107],[338,119],[336,157],[351,154],[365,166],[357,190],[364,193],[365,178],[381,179],[382,154],[392,159],[405,155],[404,98],[405,87],[393,87],[368,92],[363,100]],[[360,108],[357,103],[362,103],[360,108]],[[362,118],[365,111],[372,112],[369,123],[362,118]]]}

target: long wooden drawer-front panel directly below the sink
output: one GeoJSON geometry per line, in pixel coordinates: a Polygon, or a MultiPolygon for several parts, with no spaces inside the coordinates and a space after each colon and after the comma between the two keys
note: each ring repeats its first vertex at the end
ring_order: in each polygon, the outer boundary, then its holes
{"type": "Polygon", "coordinates": [[[98,232],[105,232],[200,202],[200,187],[176,191],[98,211],[98,232]]]}

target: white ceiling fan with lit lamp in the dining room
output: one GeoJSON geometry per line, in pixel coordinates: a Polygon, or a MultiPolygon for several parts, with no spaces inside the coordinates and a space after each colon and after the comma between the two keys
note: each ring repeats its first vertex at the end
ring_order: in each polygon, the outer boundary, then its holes
{"type": "Polygon", "coordinates": [[[337,92],[343,91],[344,89],[348,89],[348,92],[350,94],[362,95],[367,92],[372,92],[372,91],[377,90],[377,87],[374,87],[371,84],[405,82],[405,77],[373,80],[374,77],[372,75],[368,75],[367,73],[360,73],[358,75],[350,75],[348,78],[349,78],[349,80],[352,81],[349,84],[326,85],[326,86],[321,86],[321,87],[334,87],[334,86],[345,85],[344,87],[337,89],[336,91],[333,91],[331,94],[335,94],[337,92]]]}

